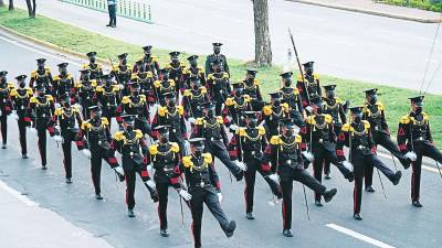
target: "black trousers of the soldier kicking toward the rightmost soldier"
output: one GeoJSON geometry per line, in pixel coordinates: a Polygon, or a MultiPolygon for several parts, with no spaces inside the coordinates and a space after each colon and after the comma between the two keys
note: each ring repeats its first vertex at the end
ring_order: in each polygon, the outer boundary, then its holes
{"type": "MultiPolygon", "coordinates": [[[[373,139],[376,144],[380,144],[389,152],[391,152],[391,154],[398,158],[398,160],[401,162],[402,165],[410,164],[410,161],[407,160],[407,158],[404,158],[403,154],[400,152],[398,144],[396,144],[387,133],[375,131],[373,139]]],[[[373,174],[373,166],[368,165],[366,170],[366,186],[371,186],[372,174],[373,174]]]]}

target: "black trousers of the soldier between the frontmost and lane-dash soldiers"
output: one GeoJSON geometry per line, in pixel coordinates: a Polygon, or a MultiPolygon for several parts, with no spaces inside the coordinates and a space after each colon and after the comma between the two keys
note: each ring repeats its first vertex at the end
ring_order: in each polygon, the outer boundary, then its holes
{"type": "Polygon", "coordinates": [[[261,161],[256,159],[248,159],[244,160],[248,165],[248,170],[244,172],[245,179],[245,190],[244,190],[244,198],[245,198],[245,213],[253,212],[253,196],[255,192],[255,179],[256,171],[264,177],[265,182],[267,182],[272,193],[276,195],[278,198],[282,197],[281,188],[277,183],[273,180],[269,179],[269,175],[272,174],[269,165],[262,165],[261,161]]]}

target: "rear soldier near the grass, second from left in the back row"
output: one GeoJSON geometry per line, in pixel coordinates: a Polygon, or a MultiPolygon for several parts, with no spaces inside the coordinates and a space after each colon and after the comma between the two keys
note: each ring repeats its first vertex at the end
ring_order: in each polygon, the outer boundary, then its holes
{"type": "Polygon", "coordinates": [[[54,76],[54,96],[56,103],[60,103],[63,96],[75,96],[75,82],[74,77],[67,73],[67,63],[59,64],[59,75],[54,76]]]}

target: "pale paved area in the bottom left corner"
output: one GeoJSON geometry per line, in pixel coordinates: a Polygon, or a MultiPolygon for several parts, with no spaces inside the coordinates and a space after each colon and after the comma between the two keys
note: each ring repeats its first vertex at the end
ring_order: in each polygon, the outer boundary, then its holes
{"type": "Polygon", "coordinates": [[[0,180],[0,247],[8,248],[112,248],[104,239],[39,207],[0,180]]]}

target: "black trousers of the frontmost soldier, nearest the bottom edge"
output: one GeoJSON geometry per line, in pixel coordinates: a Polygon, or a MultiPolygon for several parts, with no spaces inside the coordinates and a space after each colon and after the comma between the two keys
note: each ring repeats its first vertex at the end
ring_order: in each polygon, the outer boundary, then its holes
{"type": "Polygon", "coordinates": [[[221,204],[218,201],[218,195],[211,191],[201,187],[191,187],[189,193],[192,195],[190,200],[190,211],[192,213],[192,234],[194,239],[194,247],[201,247],[201,223],[202,223],[202,212],[203,204],[212,213],[213,217],[217,218],[224,233],[229,227],[229,219],[221,208],[221,204]]]}

